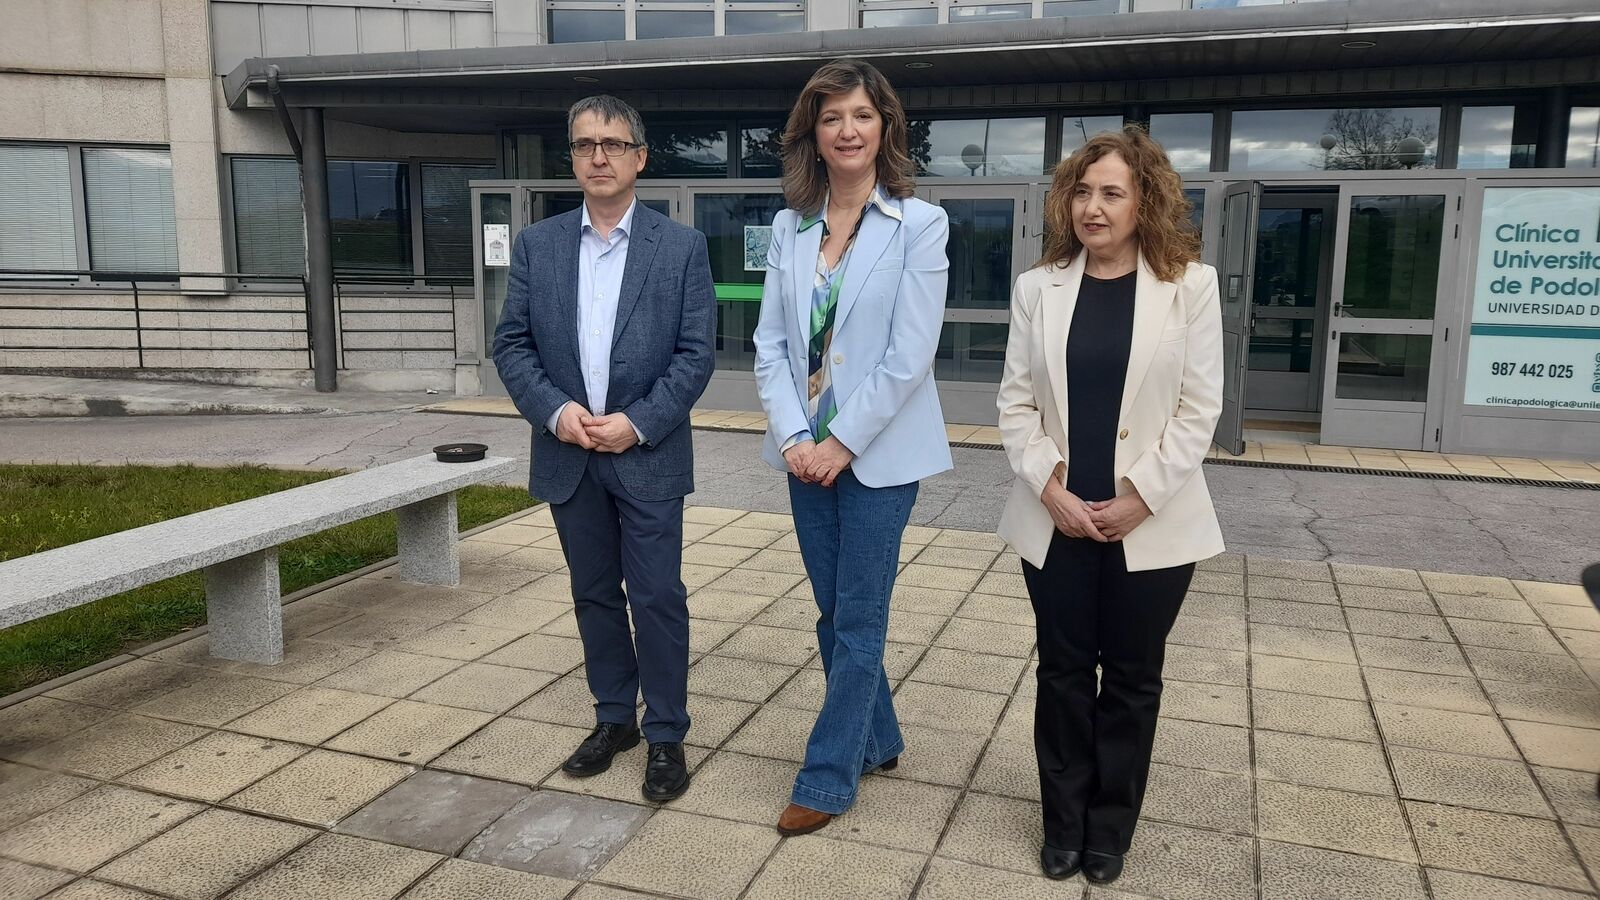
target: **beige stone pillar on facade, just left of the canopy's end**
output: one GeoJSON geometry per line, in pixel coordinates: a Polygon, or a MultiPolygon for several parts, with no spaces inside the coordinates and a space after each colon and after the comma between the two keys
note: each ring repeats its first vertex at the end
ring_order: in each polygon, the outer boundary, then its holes
{"type": "MultiPolygon", "coordinates": [[[[211,93],[211,24],[206,0],[162,0],[166,131],[173,157],[178,267],[224,272],[222,179],[211,93]]],[[[184,293],[222,293],[222,279],[182,279],[184,293]]]]}

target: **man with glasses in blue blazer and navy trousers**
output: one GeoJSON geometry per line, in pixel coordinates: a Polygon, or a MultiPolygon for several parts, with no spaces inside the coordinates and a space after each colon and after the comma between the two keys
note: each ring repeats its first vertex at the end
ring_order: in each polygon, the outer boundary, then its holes
{"type": "Polygon", "coordinates": [[[643,690],[642,791],[661,802],[690,783],[683,496],[717,298],[706,235],[634,195],[646,155],[638,114],[594,96],[566,128],[584,205],[517,235],[494,365],[533,423],[528,488],[555,517],[595,698],[597,727],[562,769],[598,775],[637,746],[643,690]]]}

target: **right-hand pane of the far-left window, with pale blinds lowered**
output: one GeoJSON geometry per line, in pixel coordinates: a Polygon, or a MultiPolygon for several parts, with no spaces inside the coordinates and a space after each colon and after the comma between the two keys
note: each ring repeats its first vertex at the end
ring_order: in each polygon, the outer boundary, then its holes
{"type": "Polygon", "coordinates": [[[176,272],[178,216],[168,151],[85,149],[90,267],[176,272]]]}

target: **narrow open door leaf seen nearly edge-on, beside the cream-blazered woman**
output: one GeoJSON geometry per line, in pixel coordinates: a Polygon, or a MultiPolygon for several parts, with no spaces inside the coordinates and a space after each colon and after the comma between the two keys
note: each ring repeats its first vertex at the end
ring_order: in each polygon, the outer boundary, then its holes
{"type": "Polygon", "coordinates": [[[1259,210],[1259,183],[1240,181],[1222,191],[1222,234],[1216,255],[1218,290],[1222,293],[1222,418],[1216,423],[1213,440],[1235,456],[1245,452],[1245,378],[1254,312],[1259,210]]]}

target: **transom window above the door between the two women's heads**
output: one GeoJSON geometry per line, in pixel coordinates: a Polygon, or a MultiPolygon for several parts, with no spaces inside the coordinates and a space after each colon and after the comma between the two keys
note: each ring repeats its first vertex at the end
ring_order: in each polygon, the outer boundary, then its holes
{"type": "Polygon", "coordinates": [[[912,119],[907,125],[918,175],[981,178],[1046,171],[1043,119],[912,119]]]}

